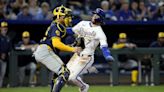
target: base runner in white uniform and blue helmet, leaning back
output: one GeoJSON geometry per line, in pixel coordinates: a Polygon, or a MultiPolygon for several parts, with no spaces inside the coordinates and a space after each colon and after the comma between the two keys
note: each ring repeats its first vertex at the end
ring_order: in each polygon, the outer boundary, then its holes
{"type": "Polygon", "coordinates": [[[80,92],[88,92],[89,85],[82,81],[80,75],[92,66],[94,52],[99,43],[105,59],[107,61],[114,61],[108,49],[106,35],[100,26],[103,23],[104,16],[104,11],[97,8],[93,12],[91,21],[81,21],[69,29],[77,34],[78,37],[82,37],[85,43],[85,48],[80,55],[75,54],[67,64],[67,68],[70,70],[69,81],[77,85],[80,88],[80,92]]]}

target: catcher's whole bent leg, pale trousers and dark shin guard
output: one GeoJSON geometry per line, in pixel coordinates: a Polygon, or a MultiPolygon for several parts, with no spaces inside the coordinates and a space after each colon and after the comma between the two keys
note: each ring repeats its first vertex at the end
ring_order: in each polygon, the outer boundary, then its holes
{"type": "Polygon", "coordinates": [[[58,90],[64,86],[69,75],[69,71],[65,66],[63,66],[64,63],[62,60],[53,51],[48,50],[46,45],[39,46],[34,53],[34,56],[38,62],[41,62],[48,69],[59,75],[57,80],[62,82],[56,82],[53,88],[54,92],[59,92],[58,90]]]}

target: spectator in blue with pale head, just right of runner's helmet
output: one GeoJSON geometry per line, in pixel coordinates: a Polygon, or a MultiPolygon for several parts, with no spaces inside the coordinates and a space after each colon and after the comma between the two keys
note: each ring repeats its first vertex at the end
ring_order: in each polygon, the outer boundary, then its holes
{"type": "Polygon", "coordinates": [[[113,21],[117,20],[117,17],[115,16],[114,12],[112,10],[109,10],[109,2],[108,1],[102,1],[101,8],[105,12],[106,19],[113,20],[113,21]]]}

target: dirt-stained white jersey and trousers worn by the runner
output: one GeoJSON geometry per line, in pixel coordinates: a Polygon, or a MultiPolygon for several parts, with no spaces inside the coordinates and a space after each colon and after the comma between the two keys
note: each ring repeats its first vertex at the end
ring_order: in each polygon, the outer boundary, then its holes
{"type": "Polygon", "coordinates": [[[81,21],[72,28],[78,37],[84,38],[85,44],[80,56],[74,55],[67,64],[71,72],[69,80],[79,87],[85,86],[79,75],[83,74],[93,64],[94,52],[99,43],[100,47],[108,46],[106,35],[101,26],[92,26],[91,24],[91,21],[81,21]]]}

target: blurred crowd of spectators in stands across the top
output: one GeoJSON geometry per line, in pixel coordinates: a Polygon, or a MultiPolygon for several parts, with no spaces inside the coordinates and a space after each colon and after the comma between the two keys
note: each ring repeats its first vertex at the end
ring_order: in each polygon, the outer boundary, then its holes
{"type": "Polygon", "coordinates": [[[111,21],[164,20],[163,0],[0,0],[0,19],[51,20],[53,8],[61,4],[77,19],[89,20],[101,7],[111,21]]]}

